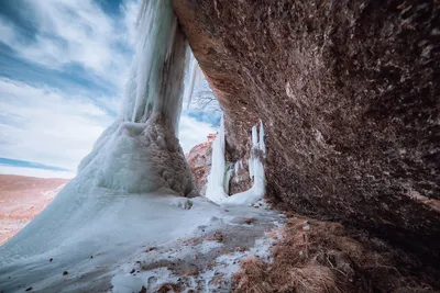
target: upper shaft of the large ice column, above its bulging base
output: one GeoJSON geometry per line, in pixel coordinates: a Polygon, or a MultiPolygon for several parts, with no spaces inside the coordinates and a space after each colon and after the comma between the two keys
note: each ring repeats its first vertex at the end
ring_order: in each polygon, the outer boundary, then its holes
{"type": "Polygon", "coordinates": [[[152,115],[162,115],[176,133],[188,45],[170,1],[142,1],[136,25],[136,54],[122,116],[124,121],[145,123],[152,115]]]}

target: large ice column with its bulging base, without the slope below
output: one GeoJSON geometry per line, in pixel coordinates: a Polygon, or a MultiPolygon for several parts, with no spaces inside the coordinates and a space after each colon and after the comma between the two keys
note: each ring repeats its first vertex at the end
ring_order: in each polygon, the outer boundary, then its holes
{"type": "Polygon", "coordinates": [[[166,188],[186,195],[193,182],[176,134],[185,72],[190,71],[186,92],[191,95],[197,67],[188,68],[189,46],[170,1],[144,0],[136,25],[136,52],[122,114],[101,135],[78,171],[98,169],[97,184],[109,189],[150,192],[166,188]]]}

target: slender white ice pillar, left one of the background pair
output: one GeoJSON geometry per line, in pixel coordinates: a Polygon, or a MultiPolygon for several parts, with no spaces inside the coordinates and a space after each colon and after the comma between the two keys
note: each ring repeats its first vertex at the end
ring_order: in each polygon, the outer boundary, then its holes
{"type": "Polygon", "coordinates": [[[223,116],[220,121],[220,131],[212,143],[211,171],[208,176],[206,196],[213,202],[221,202],[228,198],[224,192],[224,123],[223,116]]]}

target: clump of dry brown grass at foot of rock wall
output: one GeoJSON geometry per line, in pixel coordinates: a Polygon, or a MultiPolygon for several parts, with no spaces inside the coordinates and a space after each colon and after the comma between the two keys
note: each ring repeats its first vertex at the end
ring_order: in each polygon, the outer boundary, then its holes
{"type": "Polygon", "coordinates": [[[273,263],[242,261],[234,292],[421,292],[419,282],[394,267],[395,253],[385,244],[355,239],[336,223],[311,222],[306,232],[304,221],[288,221],[284,239],[273,248],[273,263]]]}

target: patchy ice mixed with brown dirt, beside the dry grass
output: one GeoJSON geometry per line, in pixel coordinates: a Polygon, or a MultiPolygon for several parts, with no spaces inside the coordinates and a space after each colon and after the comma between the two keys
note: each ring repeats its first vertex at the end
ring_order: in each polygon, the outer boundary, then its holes
{"type": "Polygon", "coordinates": [[[140,285],[138,278],[147,292],[157,292],[164,285],[180,292],[230,292],[232,275],[242,260],[256,257],[271,261],[271,247],[280,238],[282,222],[283,217],[272,211],[234,206],[222,221],[201,225],[198,237],[135,255],[112,279],[113,292],[122,292],[119,290],[130,279],[140,285]]]}

